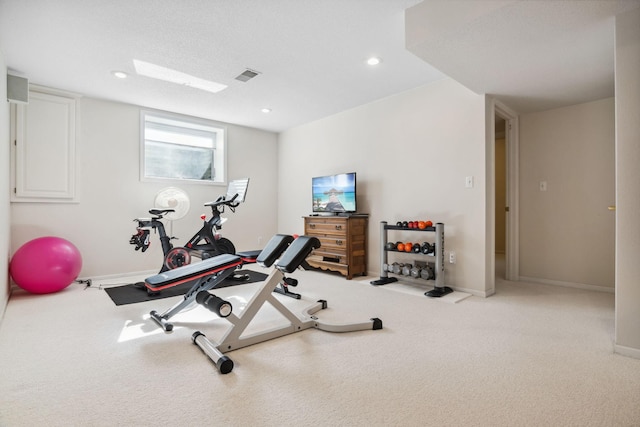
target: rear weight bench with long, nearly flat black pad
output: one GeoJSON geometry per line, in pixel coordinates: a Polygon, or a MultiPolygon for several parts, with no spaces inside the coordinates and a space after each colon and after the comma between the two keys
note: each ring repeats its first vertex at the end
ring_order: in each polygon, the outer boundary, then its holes
{"type": "MultiPolygon", "coordinates": [[[[292,241],[292,236],[276,234],[260,251],[255,262],[262,267],[271,267],[292,241]]],[[[231,276],[242,263],[243,259],[239,255],[222,254],[148,277],[145,279],[144,285],[148,292],[154,293],[183,283],[193,283],[182,301],[162,314],[153,310],[150,313],[151,318],[165,331],[173,330],[173,324],[169,323],[171,317],[194,302],[199,292],[215,289],[224,279],[231,276]]]]}

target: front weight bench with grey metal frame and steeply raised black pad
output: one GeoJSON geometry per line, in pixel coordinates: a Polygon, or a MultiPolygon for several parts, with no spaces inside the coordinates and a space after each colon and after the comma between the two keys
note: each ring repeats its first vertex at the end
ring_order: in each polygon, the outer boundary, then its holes
{"type": "Polygon", "coordinates": [[[382,329],[382,320],[372,318],[366,322],[351,324],[331,324],[321,322],[314,313],[327,308],[325,300],[309,306],[302,315],[293,313],[283,305],[274,295],[273,289],[281,282],[284,273],[292,273],[300,267],[313,249],[320,247],[320,241],[316,237],[299,236],[295,239],[276,261],[275,268],[262,286],[249,300],[244,310],[236,315],[230,303],[209,293],[199,291],[196,301],[213,311],[221,318],[231,323],[231,327],[225,332],[218,342],[210,341],[202,332],[196,331],[192,335],[192,341],[214,362],[222,374],[227,374],[233,369],[233,361],[223,353],[261,343],[274,338],[279,338],[309,328],[316,328],[328,332],[350,332],[368,329],[382,329]],[[251,324],[256,314],[265,303],[271,304],[288,321],[288,325],[275,327],[267,331],[243,336],[247,327],[251,324]]]}

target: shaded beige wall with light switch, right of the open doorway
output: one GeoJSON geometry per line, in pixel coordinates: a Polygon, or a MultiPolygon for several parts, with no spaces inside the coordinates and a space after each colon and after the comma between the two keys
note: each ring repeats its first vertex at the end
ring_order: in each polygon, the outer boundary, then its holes
{"type": "Polygon", "coordinates": [[[613,291],[614,154],[613,98],[520,116],[521,277],[613,291]]]}

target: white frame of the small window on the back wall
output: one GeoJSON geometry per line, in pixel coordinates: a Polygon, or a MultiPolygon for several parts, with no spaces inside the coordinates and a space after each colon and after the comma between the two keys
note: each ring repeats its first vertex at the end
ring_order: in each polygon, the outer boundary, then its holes
{"type": "Polygon", "coordinates": [[[204,185],[227,185],[227,129],[211,120],[202,119],[198,117],[185,116],[181,114],[168,113],[164,111],[153,110],[141,110],[140,111],[140,181],[142,182],[175,182],[175,183],[190,183],[190,184],[204,184],[204,185]],[[213,157],[213,165],[215,168],[214,179],[190,179],[180,177],[150,177],[146,176],[146,118],[157,117],[161,119],[167,119],[171,121],[184,124],[186,128],[190,125],[194,128],[198,128],[198,131],[205,129],[206,132],[216,134],[216,146],[214,148],[215,155],[213,157]]]}

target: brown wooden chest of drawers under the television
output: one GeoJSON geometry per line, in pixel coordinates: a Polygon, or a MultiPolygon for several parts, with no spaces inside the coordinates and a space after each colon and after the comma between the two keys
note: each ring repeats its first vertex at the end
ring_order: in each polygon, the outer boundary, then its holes
{"type": "Polygon", "coordinates": [[[320,239],[321,246],[307,258],[311,267],[337,271],[351,280],[367,274],[366,215],[306,216],[305,236],[320,239]]]}

